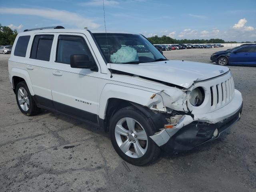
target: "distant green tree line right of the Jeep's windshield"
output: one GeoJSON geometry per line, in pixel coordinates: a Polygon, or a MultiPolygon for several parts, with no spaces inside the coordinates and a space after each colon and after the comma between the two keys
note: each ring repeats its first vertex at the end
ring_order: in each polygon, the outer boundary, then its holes
{"type": "MultiPolygon", "coordinates": [[[[223,39],[173,39],[166,35],[161,37],[153,36],[148,40],[152,44],[211,44],[211,43],[238,43],[236,41],[224,41],[223,39]]],[[[242,42],[243,43],[243,42],[242,42]]]]}

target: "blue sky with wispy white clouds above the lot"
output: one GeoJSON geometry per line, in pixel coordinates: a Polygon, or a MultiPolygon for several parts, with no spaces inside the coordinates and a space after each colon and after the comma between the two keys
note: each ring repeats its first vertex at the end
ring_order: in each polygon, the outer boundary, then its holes
{"type": "MultiPolygon", "coordinates": [[[[176,39],[256,41],[256,0],[104,0],[107,30],[176,39]]],[[[8,0],[0,24],[104,29],[103,0],[8,0]]]]}

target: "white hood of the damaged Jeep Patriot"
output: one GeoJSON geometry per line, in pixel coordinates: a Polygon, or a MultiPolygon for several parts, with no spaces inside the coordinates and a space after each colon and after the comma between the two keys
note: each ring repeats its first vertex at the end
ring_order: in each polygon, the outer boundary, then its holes
{"type": "MultiPolygon", "coordinates": [[[[107,64],[110,68],[110,64],[107,64]]],[[[111,69],[143,76],[184,88],[228,72],[229,68],[214,64],[168,60],[140,64],[111,64],[111,69]]]]}

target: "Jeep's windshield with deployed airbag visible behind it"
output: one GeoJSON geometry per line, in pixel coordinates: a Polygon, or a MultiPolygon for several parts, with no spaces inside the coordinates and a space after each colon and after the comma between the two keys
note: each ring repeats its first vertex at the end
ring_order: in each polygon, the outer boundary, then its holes
{"type": "Polygon", "coordinates": [[[93,35],[108,63],[138,64],[166,60],[142,35],[107,33],[108,41],[105,33],[93,35]]]}

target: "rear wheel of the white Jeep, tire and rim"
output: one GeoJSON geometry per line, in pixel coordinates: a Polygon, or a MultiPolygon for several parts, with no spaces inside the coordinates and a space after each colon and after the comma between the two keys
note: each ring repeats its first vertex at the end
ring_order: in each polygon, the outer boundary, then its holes
{"type": "Polygon", "coordinates": [[[40,112],[40,108],[36,106],[32,98],[28,86],[24,81],[19,82],[15,89],[16,102],[20,111],[26,116],[33,116],[40,112]]]}

